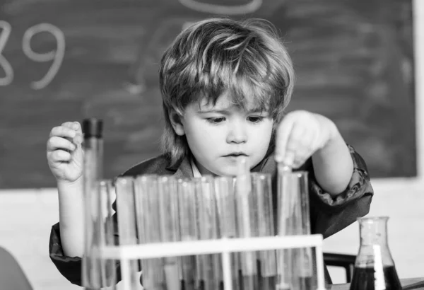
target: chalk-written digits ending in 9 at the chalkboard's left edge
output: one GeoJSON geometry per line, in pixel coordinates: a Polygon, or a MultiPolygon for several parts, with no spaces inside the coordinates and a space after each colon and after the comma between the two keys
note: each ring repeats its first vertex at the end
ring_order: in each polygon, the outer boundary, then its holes
{"type": "MultiPolygon", "coordinates": [[[[6,57],[2,54],[4,47],[6,46],[8,37],[11,35],[11,25],[6,21],[0,20],[0,69],[4,71],[4,76],[0,76],[0,86],[7,86],[13,81],[13,67],[8,62],[6,57]]],[[[30,83],[31,88],[40,90],[45,88],[56,76],[57,71],[61,66],[61,63],[65,55],[65,36],[64,33],[56,26],[49,23],[40,23],[28,28],[23,34],[22,40],[23,53],[34,62],[52,62],[49,70],[38,81],[30,83]],[[50,52],[35,52],[31,48],[31,39],[37,33],[50,33],[56,39],[56,50],[50,52]]]]}

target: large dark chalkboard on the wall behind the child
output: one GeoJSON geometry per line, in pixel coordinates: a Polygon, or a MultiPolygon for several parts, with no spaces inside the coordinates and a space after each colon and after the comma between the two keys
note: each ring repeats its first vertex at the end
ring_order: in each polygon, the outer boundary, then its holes
{"type": "Polygon", "coordinates": [[[52,127],[105,121],[105,177],[156,156],[158,62],[193,21],[259,17],[281,31],[289,109],[321,113],[374,178],[416,175],[411,0],[3,0],[0,188],[54,187],[52,127]]]}

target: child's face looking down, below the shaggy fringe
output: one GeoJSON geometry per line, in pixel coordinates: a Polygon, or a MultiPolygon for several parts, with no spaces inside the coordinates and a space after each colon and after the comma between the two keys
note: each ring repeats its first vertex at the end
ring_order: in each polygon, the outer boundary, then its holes
{"type": "Polygon", "coordinates": [[[271,141],[273,120],[247,103],[246,109],[232,104],[228,93],[216,105],[207,101],[187,106],[182,130],[200,173],[237,175],[237,158],[247,156],[250,168],[265,157],[271,141]]]}

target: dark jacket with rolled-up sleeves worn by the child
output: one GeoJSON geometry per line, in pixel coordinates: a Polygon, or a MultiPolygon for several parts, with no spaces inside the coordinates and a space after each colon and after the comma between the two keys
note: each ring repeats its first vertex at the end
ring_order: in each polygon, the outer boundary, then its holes
{"type": "MultiPolygon", "coordinates": [[[[373,190],[365,161],[349,146],[353,158],[353,174],[346,190],[333,198],[319,186],[312,166],[312,159],[308,159],[298,170],[309,173],[310,182],[310,221],[312,233],[321,233],[327,238],[352,224],[360,216],[365,216],[370,209],[373,190]]],[[[169,166],[170,159],[165,155],[152,158],[148,161],[127,170],[123,176],[136,176],[155,173],[158,175],[174,175],[175,178],[193,176],[189,158],[184,158],[176,166],[169,166]]],[[[255,172],[271,173],[276,180],[276,163],[272,156],[264,158],[255,168],[255,172]]],[[[275,192],[275,191],[274,191],[275,192]]],[[[275,195],[274,195],[275,196],[275,195]]],[[[275,198],[274,198],[275,199],[275,198]]],[[[276,204],[276,202],[273,202],[276,204]]],[[[274,211],[276,212],[276,211],[274,211]]],[[[67,257],[61,247],[59,223],[52,226],[49,240],[49,255],[66,279],[73,284],[81,285],[81,257],[67,257]]],[[[119,262],[117,263],[117,279],[120,277],[119,262]]],[[[326,282],[331,282],[326,272],[326,282]]]]}

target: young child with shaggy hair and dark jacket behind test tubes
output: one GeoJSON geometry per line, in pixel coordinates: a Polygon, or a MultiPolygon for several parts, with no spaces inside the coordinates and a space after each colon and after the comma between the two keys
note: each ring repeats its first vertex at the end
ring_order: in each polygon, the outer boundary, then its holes
{"type": "MultiPolygon", "coordinates": [[[[160,64],[165,153],[124,175],[236,175],[240,156],[247,156],[252,171],[275,173],[275,161],[283,162],[309,172],[312,233],[326,238],[340,231],[369,210],[367,168],[331,120],[306,111],[283,117],[293,81],[290,57],[271,24],[227,18],[195,23],[160,64]]],[[[80,124],[66,122],[47,142],[59,192],[50,257],[75,284],[81,284],[83,255],[82,140],[80,124]]]]}

